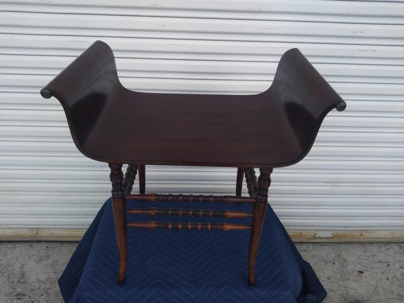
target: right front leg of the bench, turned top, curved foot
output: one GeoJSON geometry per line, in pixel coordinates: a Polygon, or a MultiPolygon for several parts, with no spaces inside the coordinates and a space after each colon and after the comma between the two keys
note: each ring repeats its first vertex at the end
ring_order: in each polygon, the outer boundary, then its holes
{"type": "Polygon", "coordinates": [[[248,249],[248,285],[255,285],[255,260],[257,258],[259,239],[261,238],[265,212],[268,203],[268,188],[271,185],[272,168],[260,168],[258,177],[258,192],[252,218],[250,247],[248,249]]]}

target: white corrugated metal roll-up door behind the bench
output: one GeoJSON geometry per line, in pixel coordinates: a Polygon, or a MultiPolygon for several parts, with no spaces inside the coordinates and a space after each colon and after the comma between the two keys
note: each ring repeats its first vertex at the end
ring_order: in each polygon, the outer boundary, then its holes
{"type": "MultiPolygon", "coordinates": [[[[38,93],[100,39],[125,86],[175,93],[259,93],[300,48],[347,109],[275,170],[271,205],[289,229],[402,230],[403,16],[399,1],[1,1],[0,227],[85,228],[109,196],[106,164],[77,151],[61,105],[38,93]]],[[[148,166],[147,190],[232,194],[235,178],[148,166]]]]}

